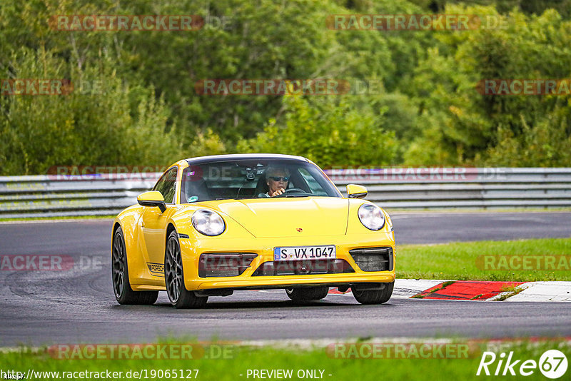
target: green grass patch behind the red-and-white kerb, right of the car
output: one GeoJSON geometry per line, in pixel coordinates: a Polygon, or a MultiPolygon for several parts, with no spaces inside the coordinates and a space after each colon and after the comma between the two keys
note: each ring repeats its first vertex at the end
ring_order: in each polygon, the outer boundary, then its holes
{"type": "Polygon", "coordinates": [[[398,245],[396,269],[397,278],[409,279],[571,280],[570,259],[571,238],[398,245]],[[510,255],[517,258],[512,260],[510,255]],[[547,257],[555,261],[554,268],[545,268],[547,257]]]}

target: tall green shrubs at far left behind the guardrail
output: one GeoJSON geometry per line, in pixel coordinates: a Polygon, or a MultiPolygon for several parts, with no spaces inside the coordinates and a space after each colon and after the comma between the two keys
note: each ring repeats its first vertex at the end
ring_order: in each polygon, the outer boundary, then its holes
{"type": "Polygon", "coordinates": [[[46,173],[57,165],[168,165],[180,147],[168,108],[152,87],[115,76],[114,63],[77,66],[19,49],[3,78],[70,78],[68,95],[0,97],[0,173],[46,173]],[[94,88],[94,86],[96,88],[94,88]]]}

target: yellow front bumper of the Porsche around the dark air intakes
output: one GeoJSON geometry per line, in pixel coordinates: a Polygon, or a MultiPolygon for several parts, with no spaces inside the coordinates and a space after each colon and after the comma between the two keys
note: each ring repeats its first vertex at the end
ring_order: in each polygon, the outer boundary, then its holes
{"type": "Polygon", "coordinates": [[[303,238],[249,238],[201,240],[181,238],[184,282],[187,290],[213,290],[219,288],[259,289],[286,288],[295,285],[349,285],[353,283],[390,283],[395,280],[395,240],[393,233],[363,235],[329,235],[303,238]],[[354,273],[252,276],[265,262],[273,261],[273,248],[278,246],[335,245],[337,259],[347,261],[354,273]],[[349,250],[355,248],[390,247],[393,249],[393,268],[387,271],[360,270],[349,250]],[[202,253],[255,253],[258,256],[238,276],[200,278],[198,259],[202,253]]]}

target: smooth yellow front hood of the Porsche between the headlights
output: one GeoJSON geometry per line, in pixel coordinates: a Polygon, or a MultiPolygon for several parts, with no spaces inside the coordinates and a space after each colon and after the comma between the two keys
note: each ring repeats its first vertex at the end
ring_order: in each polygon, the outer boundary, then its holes
{"type": "Polygon", "coordinates": [[[255,198],[208,203],[258,238],[344,235],[348,200],[335,197],[255,198]]]}

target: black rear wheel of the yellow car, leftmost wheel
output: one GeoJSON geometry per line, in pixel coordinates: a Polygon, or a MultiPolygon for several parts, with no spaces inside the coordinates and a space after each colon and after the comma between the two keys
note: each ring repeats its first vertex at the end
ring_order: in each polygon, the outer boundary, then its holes
{"type": "Polygon", "coordinates": [[[133,291],[131,288],[127,266],[127,250],[121,227],[117,228],[115,235],[113,235],[111,278],[113,280],[115,298],[119,304],[151,305],[158,298],[158,291],[133,291]]]}

